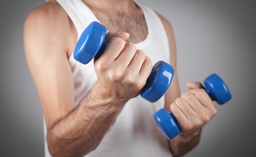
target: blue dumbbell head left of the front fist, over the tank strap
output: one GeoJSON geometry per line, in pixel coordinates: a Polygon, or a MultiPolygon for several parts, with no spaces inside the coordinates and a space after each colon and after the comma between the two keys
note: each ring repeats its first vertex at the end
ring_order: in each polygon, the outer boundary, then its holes
{"type": "Polygon", "coordinates": [[[85,28],[74,49],[74,58],[80,63],[89,63],[104,42],[107,29],[99,22],[92,22],[85,28]]]}

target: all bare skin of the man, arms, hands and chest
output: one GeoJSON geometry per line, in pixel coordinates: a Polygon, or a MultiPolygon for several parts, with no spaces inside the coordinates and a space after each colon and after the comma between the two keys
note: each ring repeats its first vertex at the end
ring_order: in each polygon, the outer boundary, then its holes
{"type": "MultiPolygon", "coordinates": [[[[55,0],[49,0],[32,10],[24,25],[25,55],[45,116],[48,148],[53,157],[83,156],[96,149],[125,103],[140,94],[152,69],[150,58],[132,44],[147,36],[143,13],[135,3],[83,1],[110,32],[105,52],[94,60],[99,80],[76,107],[68,61],[77,39],[72,21],[55,0]]],[[[159,18],[166,29],[170,64],[175,70],[164,106],[173,112],[181,130],[169,145],[173,156],[181,156],[198,144],[202,127],[217,111],[199,82],[188,83],[189,92],[180,94],[173,29],[165,18],[159,18]]]]}

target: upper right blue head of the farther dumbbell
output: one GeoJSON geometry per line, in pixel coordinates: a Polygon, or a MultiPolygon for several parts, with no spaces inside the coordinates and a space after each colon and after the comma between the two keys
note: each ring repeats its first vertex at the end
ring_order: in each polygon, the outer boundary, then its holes
{"type": "Polygon", "coordinates": [[[204,85],[204,90],[209,94],[211,99],[217,101],[219,104],[226,103],[232,97],[227,85],[217,74],[211,74],[204,79],[204,85]]]}

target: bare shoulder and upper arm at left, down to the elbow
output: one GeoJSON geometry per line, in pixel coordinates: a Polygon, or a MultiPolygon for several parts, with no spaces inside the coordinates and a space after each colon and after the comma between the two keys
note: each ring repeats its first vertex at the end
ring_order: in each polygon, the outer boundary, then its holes
{"type": "Polygon", "coordinates": [[[24,24],[25,56],[47,127],[74,107],[68,61],[68,53],[76,43],[74,30],[70,18],[54,0],[32,10],[24,24]]]}

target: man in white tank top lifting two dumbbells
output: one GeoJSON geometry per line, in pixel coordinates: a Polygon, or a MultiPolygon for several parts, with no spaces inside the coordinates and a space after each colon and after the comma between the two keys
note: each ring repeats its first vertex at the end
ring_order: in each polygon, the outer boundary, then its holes
{"type": "Polygon", "coordinates": [[[38,90],[52,156],[181,156],[199,142],[216,108],[198,82],[180,95],[170,23],[132,0],[49,0],[25,21],[27,62],[38,90]],[[82,65],[72,53],[93,20],[108,29],[108,46],[82,65]],[[128,33],[126,33],[128,32],[128,33]],[[139,50],[141,49],[141,50],[139,50]],[[164,97],[152,104],[138,96],[152,65],[175,69],[164,97]],[[181,132],[167,141],[152,114],[173,112],[181,132]]]}

